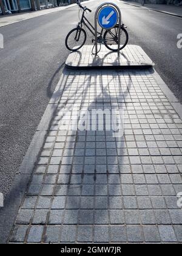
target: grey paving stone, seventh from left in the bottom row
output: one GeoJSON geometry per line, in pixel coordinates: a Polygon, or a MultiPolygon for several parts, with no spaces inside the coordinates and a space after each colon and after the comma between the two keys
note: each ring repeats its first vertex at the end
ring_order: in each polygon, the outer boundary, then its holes
{"type": "Polygon", "coordinates": [[[127,234],[125,226],[111,226],[110,227],[110,240],[115,243],[127,242],[127,234]]]}

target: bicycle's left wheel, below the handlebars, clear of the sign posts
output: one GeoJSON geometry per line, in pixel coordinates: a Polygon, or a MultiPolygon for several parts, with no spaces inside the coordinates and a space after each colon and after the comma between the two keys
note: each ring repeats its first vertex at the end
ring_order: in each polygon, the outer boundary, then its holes
{"type": "Polygon", "coordinates": [[[86,43],[87,34],[84,29],[76,28],[69,32],[66,37],[66,47],[69,51],[78,51],[86,43]]]}

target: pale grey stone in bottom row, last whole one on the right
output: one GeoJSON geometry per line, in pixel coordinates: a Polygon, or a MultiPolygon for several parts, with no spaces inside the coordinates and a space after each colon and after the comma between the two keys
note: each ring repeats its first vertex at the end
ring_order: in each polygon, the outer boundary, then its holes
{"type": "Polygon", "coordinates": [[[159,226],[161,241],[165,243],[177,242],[175,232],[172,226],[159,226]]]}

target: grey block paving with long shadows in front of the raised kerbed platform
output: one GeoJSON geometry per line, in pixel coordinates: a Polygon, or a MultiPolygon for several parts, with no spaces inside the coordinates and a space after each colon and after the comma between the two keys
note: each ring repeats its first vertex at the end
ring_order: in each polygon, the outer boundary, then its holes
{"type": "Polygon", "coordinates": [[[149,71],[71,71],[9,242],[181,242],[181,132],[149,71]],[[58,130],[74,104],[124,108],[124,136],[58,130]]]}

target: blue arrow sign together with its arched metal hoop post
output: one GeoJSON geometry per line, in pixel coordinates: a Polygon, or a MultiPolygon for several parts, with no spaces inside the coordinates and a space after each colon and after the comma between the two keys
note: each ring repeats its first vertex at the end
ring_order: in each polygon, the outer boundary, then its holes
{"type": "Polygon", "coordinates": [[[98,30],[97,24],[103,29],[109,30],[115,27],[118,23],[118,54],[120,54],[120,40],[121,40],[121,11],[120,8],[112,2],[101,4],[95,13],[95,54],[98,52],[98,30]],[[118,22],[119,20],[119,22],[118,22]]]}

